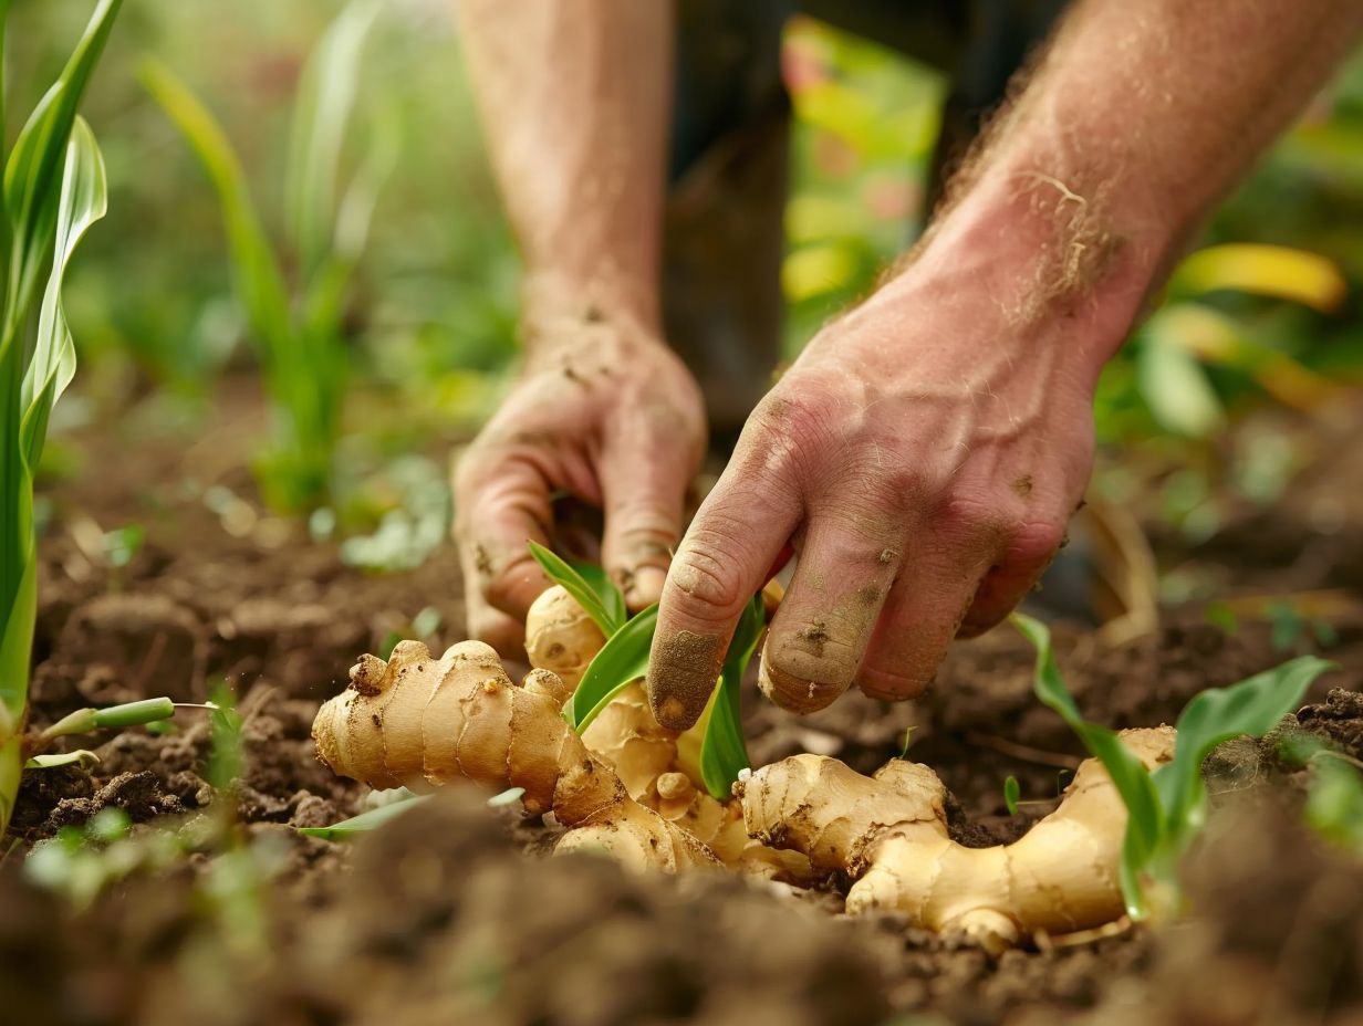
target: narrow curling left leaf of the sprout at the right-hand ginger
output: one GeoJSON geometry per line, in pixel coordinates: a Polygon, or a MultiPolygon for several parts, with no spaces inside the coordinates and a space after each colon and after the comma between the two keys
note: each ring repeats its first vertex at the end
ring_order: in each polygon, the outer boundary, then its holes
{"type": "Polygon", "coordinates": [[[1139,888],[1139,871],[1144,868],[1163,839],[1164,816],[1160,796],[1145,764],[1122,744],[1122,740],[1107,728],[1089,724],[1079,714],[1078,706],[1060,668],[1055,662],[1051,647],[1051,631],[1040,620],[1022,613],[1011,616],[1013,625],[1036,647],[1035,689],[1043,703],[1054,709],[1079,736],[1084,747],[1103,763],[1122,803],[1126,805],[1126,839],[1122,845],[1122,892],[1127,912],[1133,918],[1145,916],[1145,901],[1139,888]]]}

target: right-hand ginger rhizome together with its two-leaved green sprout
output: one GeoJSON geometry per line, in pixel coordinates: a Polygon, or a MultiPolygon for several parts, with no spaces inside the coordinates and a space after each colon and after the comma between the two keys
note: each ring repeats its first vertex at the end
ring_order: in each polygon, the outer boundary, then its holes
{"type": "Polygon", "coordinates": [[[1011,845],[966,849],[947,833],[942,782],[891,759],[875,778],[797,755],[739,785],[748,833],[793,848],[816,869],[846,872],[849,912],[897,910],[1002,951],[1035,932],[1069,933],[1122,916],[1174,912],[1180,856],[1206,813],[1202,760],[1258,736],[1293,709],[1330,664],[1303,657],[1195,696],[1178,730],[1114,733],[1084,721],[1065,689],[1047,628],[1014,623],[1037,646],[1036,692],[1096,758],[1075,771],[1055,812],[1011,845]]]}

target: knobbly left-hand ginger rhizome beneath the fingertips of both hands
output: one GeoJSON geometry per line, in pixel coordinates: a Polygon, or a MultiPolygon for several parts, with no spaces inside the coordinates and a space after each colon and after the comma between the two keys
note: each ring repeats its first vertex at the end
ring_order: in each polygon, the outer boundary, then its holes
{"type": "Polygon", "coordinates": [[[350,670],[350,688],[318,713],[318,752],[337,773],[375,788],[423,790],[461,777],[525,788],[529,812],[552,811],[568,827],[556,850],[590,845],[641,868],[721,860],[767,876],[799,869],[782,854],[752,852],[759,846],[739,804],[716,801],[680,771],[677,734],[653,719],[638,683],[581,739],[572,733],[560,711],[602,644],[596,623],[552,587],[526,617],[536,669],[521,688],[477,642],[439,659],[416,642],[394,649],[387,664],[365,655],[350,670]]]}

